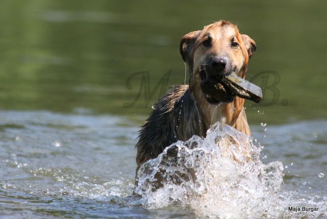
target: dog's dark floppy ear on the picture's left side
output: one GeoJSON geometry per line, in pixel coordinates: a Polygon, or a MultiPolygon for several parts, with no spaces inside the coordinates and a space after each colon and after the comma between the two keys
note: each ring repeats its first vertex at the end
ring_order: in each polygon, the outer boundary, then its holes
{"type": "Polygon", "coordinates": [[[197,37],[200,35],[200,32],[200,30],[193,31],[183,36],[180,40],[180,55],[182,56],[184,62],[186,62],[189,66],[193,65],[193,60],[191,60],[191,52],[197,37]]]}

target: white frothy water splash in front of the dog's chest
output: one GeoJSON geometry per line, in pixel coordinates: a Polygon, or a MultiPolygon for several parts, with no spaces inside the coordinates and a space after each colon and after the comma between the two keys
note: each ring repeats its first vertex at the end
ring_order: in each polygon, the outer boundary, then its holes
{"type": "Polygon", "coordinates": [[[146,162],[135,192],[149,209],[177,201],[209,217],[277,217],[284,210],[283,164],[263,164],[260,151],[248,136],[216,123],[206,138],[178,141],[146,162]]]}

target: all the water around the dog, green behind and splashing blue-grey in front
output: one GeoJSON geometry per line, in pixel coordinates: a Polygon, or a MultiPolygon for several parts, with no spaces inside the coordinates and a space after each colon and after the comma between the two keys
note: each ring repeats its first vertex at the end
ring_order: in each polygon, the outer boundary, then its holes
{"type": "MultiPolygon", "coordinates": [[[[0,216],[327,217],[326,7],[3,1],[0,216]],[[184,82],[180,38],[219,19],[258,46],[246,78],[263,87],[264,100],[246,102],[246,112],[248,144],[260,156],[243,166],[205,157],[198,183],[132,196],[138,126],[168,86],[184,82]],[[319,210],[288,209],[302,206],[319,210]]],[[[183,156],[220,155],[210,138],[193,140],[200,149],[183,156]]]]}

